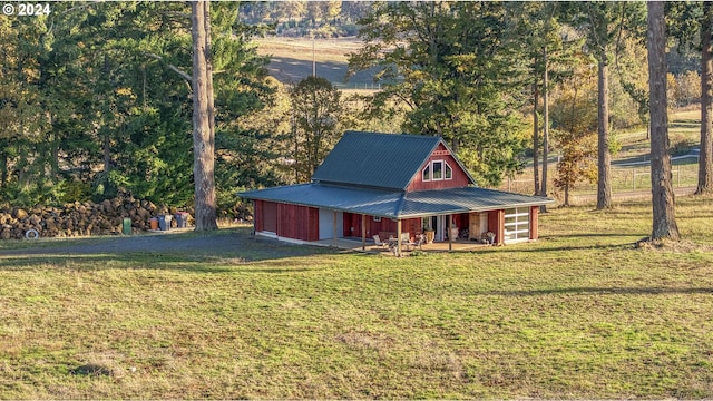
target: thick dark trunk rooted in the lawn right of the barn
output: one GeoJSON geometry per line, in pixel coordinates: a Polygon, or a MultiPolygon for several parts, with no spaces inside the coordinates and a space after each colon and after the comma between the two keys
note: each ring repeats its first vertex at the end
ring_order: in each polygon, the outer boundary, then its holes
{"type": "Polygon", "coordinates": [[[664,3],[648,1],[648,88],[651,94],[651,186],[653,204],[652,239],[678,239],[675,218],[668,116],[666,114],[666,52],[664,3]]]}

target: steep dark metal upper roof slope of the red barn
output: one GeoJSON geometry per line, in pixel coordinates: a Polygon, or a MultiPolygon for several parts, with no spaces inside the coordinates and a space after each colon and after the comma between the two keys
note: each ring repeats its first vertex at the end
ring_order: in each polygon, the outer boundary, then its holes
{"type": "Polygon", "coordinates": [[[433,136],[346,131],[312,180],[403,190],[440,143],[433,136]]]}

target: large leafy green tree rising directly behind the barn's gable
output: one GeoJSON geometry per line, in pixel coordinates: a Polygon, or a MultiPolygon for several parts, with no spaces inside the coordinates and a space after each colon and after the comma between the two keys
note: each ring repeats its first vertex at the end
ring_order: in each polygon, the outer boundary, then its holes
{"type": "Polygon", "coordinates": [[[481,185],[521,168],[525,68],[496,2],[379,2],[360,21],[350,70],[375,67],[373,107],[404,131],[441,136],[481,185]]]}

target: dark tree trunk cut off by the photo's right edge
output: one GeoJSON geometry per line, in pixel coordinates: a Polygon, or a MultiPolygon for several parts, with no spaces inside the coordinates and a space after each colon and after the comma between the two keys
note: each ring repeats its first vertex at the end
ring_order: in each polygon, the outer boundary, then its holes
{"type": "Polygon", "coordinates": [[[711,107],[711,85],[713,84],[713,57],[711,52],[711,26],[713,25],[713,9],[710,1],[703,2],[703,18],[701,20],[701,153],[699,156],[699,187],[696,194],[713,192],[713,145],[711,129],[713,129],[713,108],[711,107]]]}

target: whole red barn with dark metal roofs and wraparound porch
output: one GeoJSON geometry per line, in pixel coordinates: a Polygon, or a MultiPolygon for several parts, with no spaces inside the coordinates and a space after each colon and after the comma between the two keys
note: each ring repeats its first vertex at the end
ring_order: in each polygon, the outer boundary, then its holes
{"type": "Polygon", "coordinates": [[[554,202],[477,187],[440,137],[358,131],[344,134],[311,183],[240,195],[254,200],[257,235],[305,243],[402,232],[531,241],[539,206],[554,202]]]}

